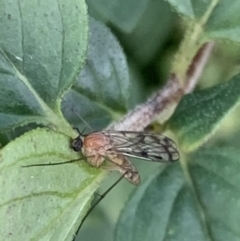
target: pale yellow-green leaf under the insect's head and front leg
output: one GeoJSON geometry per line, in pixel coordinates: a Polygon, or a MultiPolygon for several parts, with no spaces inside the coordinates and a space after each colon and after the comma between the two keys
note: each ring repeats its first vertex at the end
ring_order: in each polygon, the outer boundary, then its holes
{"type": "Polygon", "coordinates": [[[85,161],[57,166],[37,163],[81,158],[69,138],[36,129],[1,150],[1,240],[72,240],[103,172],[85,161]]]}

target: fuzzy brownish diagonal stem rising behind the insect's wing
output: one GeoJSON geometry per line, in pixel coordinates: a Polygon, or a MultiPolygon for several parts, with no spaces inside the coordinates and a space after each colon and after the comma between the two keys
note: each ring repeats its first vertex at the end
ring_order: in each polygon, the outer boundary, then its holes
{"type": "Polygon", "coordinates": [[[190,93],[196,86],[213,45],[213,42],[208,42],[199,49],[186,73],[185,86],[180,84],[175,74],[171,74],[166,85],[161,90],[150,97],[146,103],[129,112],[122,120],[111,124],[108,129],[141,131],[156,117],[161,120],[161,123],[167,121],[182,96],[190,93]]]}

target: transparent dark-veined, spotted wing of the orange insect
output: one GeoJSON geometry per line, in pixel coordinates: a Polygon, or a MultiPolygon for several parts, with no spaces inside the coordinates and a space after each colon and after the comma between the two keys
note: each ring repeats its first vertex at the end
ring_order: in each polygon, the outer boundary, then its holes
{"type": "Polygon", "coordinates": [[[179,159],[176,144],[163,135],[133,131],[103,131],[110,140],[108,151],[153,162],[179,159]]]}

